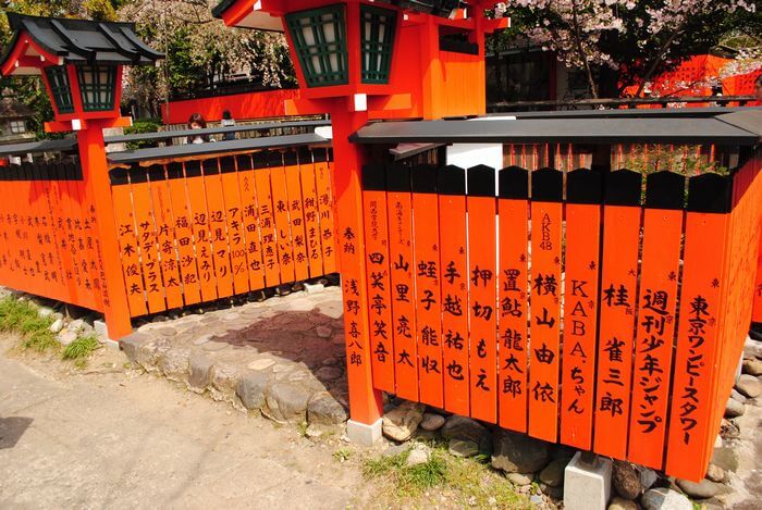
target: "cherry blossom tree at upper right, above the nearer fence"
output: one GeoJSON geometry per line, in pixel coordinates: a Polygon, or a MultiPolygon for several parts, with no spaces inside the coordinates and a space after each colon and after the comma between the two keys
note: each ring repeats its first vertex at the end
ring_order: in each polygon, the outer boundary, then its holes
{"type": "Polygon", "coordinates": [[[751,0],[509,0],[495,15],[512,17],[513,35],[583,70],[598,98],[597,72],[616,71],[620,82],[640,84],[640,95],[654,74],[709,51],[724,32],[759,30],[755,7],[751,0]]]}

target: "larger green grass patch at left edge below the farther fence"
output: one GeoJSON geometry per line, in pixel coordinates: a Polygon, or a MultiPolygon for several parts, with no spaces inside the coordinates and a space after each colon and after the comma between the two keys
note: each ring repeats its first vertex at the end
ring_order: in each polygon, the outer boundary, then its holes
{"type": "Polygon", "coordinates": [[[0,300],[0,332],[21,335],[21,346],[37,352],[58,349],[56,335],[50,332],[50,318],[39,316],[37,307],[26,300],[8,296],[0,300]]]}

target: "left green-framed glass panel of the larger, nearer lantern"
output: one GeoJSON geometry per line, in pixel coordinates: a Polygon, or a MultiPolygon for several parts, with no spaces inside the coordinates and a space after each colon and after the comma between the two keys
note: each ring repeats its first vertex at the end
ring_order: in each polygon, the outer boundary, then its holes
{"type": "Polygon", "coordinates": [[[348,83],[344,5],[293,12],[285,20],[307,86],[348,83]]]}

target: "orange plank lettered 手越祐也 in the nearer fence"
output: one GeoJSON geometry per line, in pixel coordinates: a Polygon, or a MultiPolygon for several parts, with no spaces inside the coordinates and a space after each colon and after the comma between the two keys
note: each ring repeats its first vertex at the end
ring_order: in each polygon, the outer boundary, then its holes
{"type": "Polygon", "coordinates": [[[465,173],[440,169],[440,286],[442,288],[442,364],[444,408],[470,413],[468,366],[468,239],[466,237],[465,173]],[[451,194],[442,189],[452,183],[451,194]],[[447,183],[447,184],[445,184],[447,183]]]}

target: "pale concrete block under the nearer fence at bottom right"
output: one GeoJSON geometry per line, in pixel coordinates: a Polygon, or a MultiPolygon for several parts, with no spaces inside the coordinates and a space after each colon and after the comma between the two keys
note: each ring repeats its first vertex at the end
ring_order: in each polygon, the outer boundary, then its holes
{"type": "Polygon", "coordinates": [[[611,495],[611,459],[578,451],[564,473],[566,510],[605,510],[611,495]]]}

